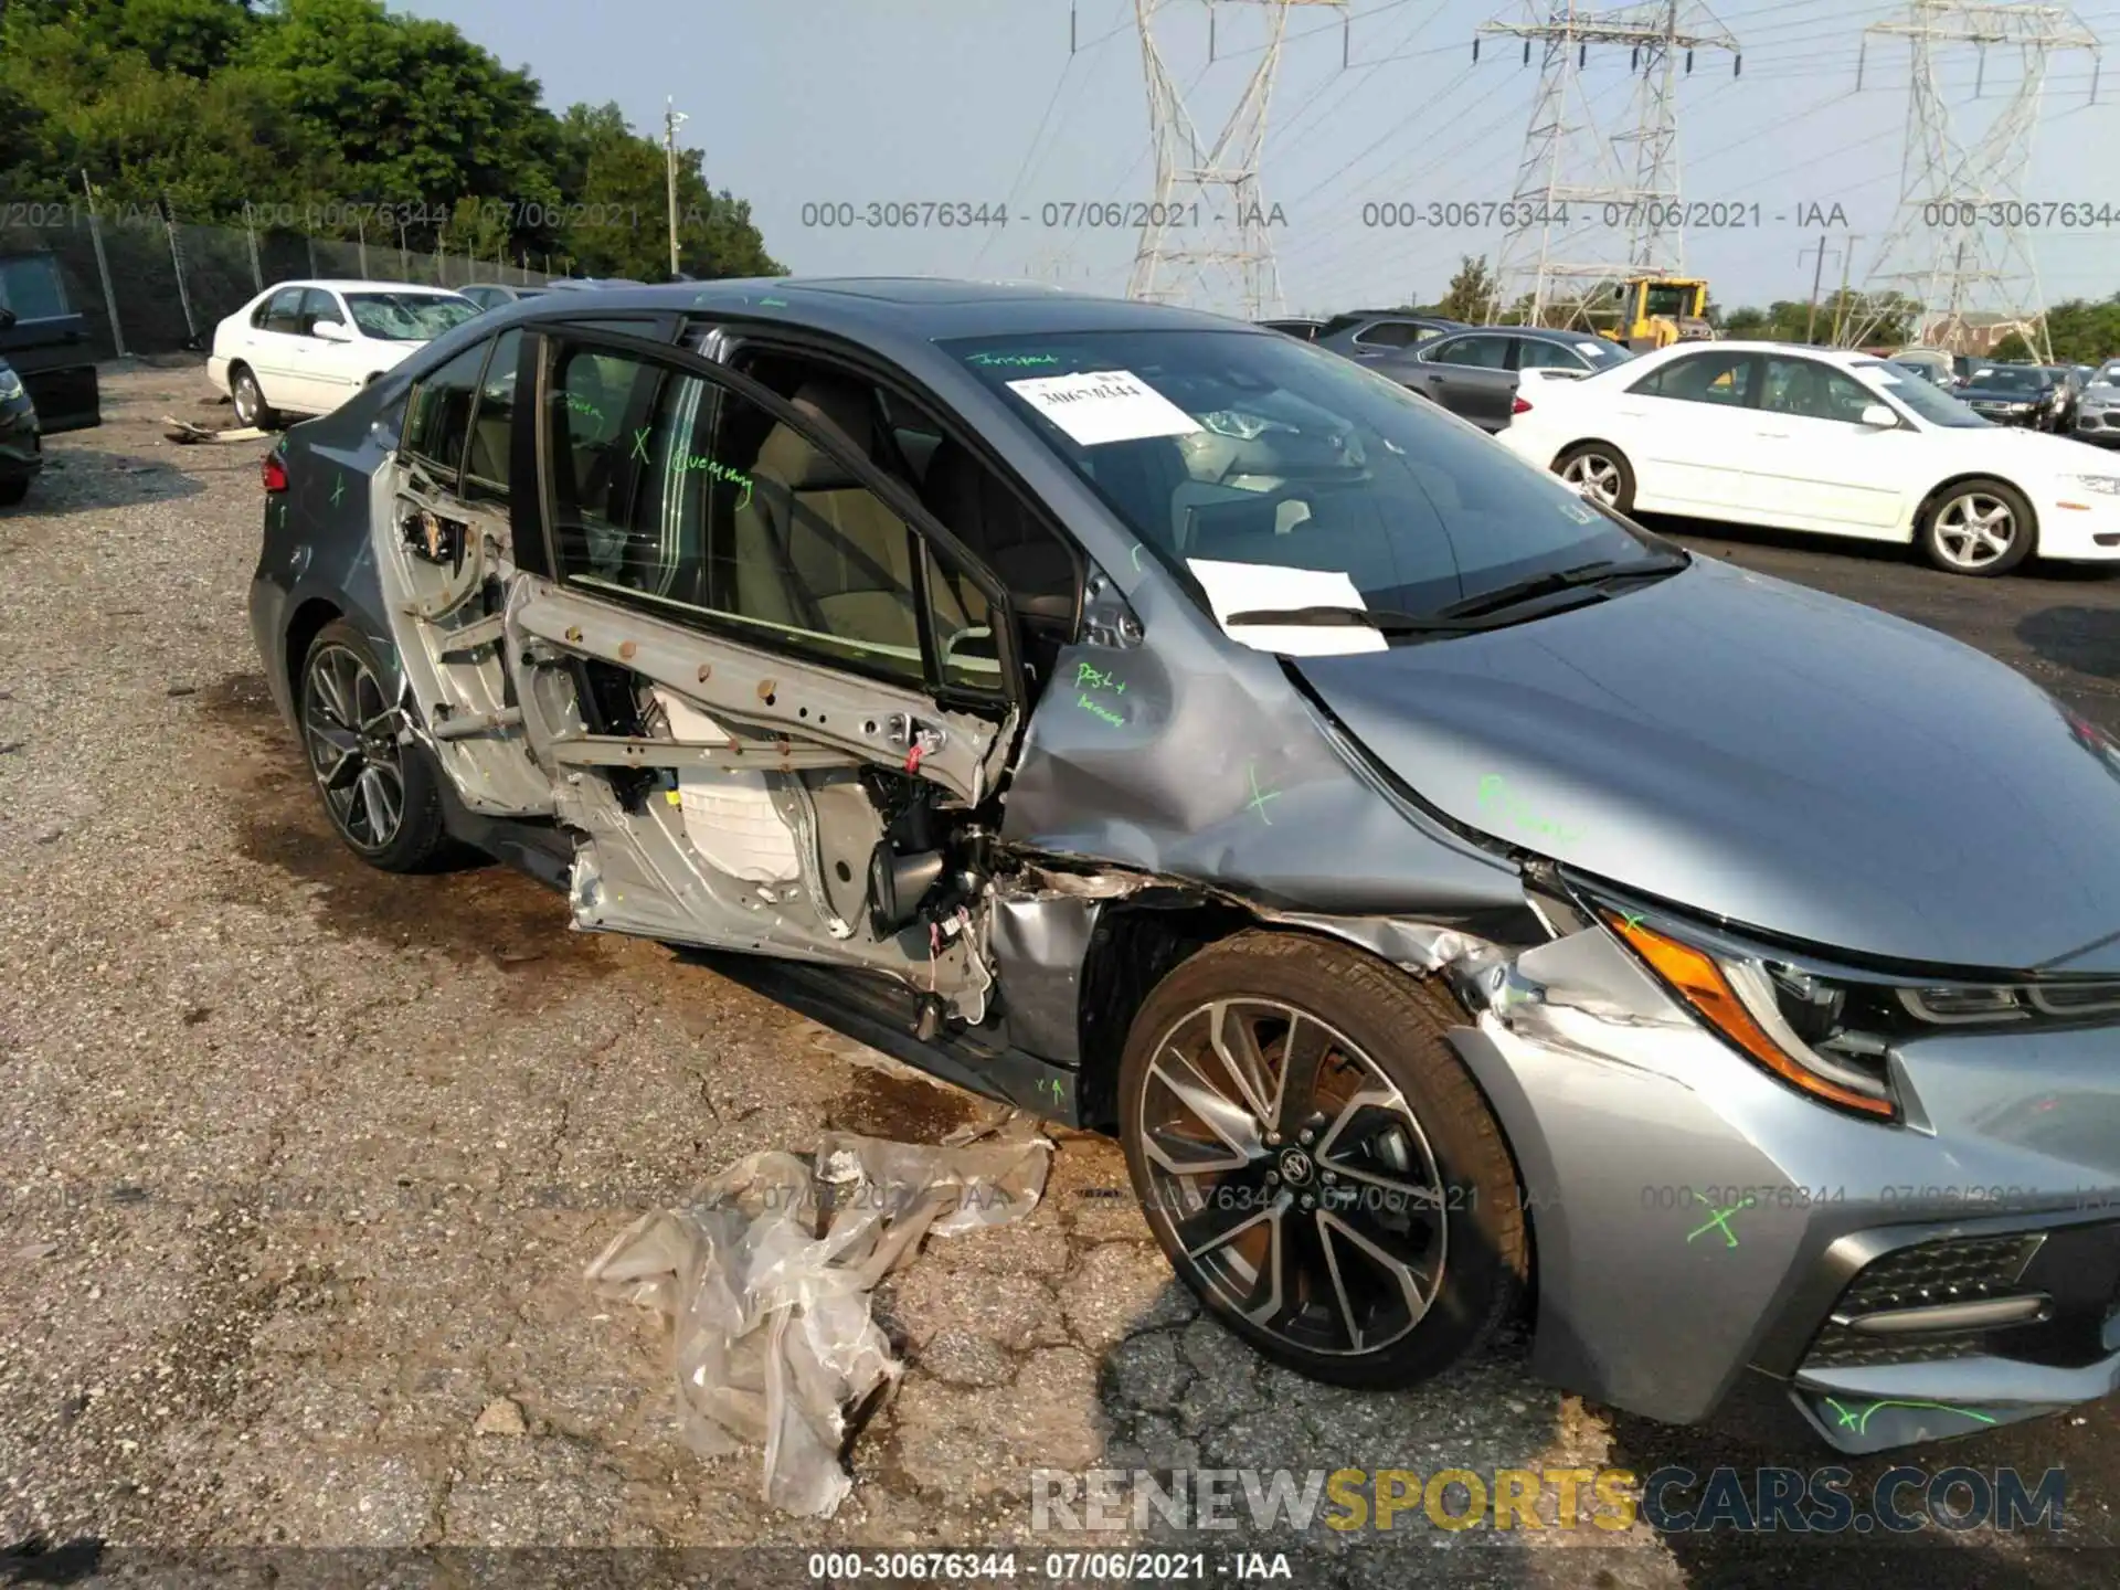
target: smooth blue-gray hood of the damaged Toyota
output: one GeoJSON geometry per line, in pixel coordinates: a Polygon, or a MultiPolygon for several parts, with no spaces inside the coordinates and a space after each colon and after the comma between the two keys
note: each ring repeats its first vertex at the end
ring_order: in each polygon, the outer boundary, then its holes
{"type": "Polygon", "coordinates": [[[2120,748],[1933,630],[1696,558],[1291,666],[1425,801],[1586,873],[1857,958],[2120,971],[2120,748]]]}

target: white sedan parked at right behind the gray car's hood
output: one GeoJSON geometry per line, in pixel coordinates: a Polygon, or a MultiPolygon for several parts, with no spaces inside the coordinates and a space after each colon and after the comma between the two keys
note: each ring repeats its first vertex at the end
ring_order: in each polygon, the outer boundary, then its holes
{"type": "Polygon", "coordinates": [[[2120,560],[2107,456],[1989,424],[1868,354],[1677,343],[1520,399],[1499,441],[1622,513],[1919,543],[1953,575],[2120,560]]]}

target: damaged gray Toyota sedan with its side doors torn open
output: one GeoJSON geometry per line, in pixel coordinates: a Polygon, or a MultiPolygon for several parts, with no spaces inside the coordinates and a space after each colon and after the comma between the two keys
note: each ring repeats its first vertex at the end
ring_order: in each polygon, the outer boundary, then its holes
{"type": "Polygon", "coordinates": [[[2114,1389],[2097,727],[1272,331],[558,297],[265,460],[257,642],[360,856],[1115,1132],[1304,1374],[1529,1306],[1560,1384],[1849,1452],[2114,1389]]]}

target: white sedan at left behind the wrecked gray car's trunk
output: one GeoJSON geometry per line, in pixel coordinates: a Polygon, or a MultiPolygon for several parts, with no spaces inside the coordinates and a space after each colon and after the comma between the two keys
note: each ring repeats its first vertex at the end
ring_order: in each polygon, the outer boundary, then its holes
{"type": "Polygon", "coordinates": [[[246,426],[331,413],[479,305],[413,282],[280,282],[214,326],[206,373],[246,426]]]}

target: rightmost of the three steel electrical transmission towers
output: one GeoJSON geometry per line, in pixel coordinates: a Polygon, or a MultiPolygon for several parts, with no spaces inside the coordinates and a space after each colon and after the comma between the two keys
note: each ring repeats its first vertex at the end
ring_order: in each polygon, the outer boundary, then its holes
{"type": "MultiPolygon", "coordinates": [[[[1959,348],[1969,316],[1993,314],[2018,322],[2046,363],[2046,305],[2039,267],[2027,227],[2044,220],[2048,206],[2025,204],[2031,140],[2039,127],[2046,66],[2056,51],[2099,55],[2099,38],[2067,6],[1969,4],[1969,0],[1908,0],[1906,15],[1863,30],[1870,38],[1904,38],[1912,55],[1906,108],[1906,155],[1900,172],[1900,208],[1868,278],[1868,310],[1842,329],[1849,346],[1874,337],[1897,305],[1921,305],[1914,335],[1959,348]],[[2016,81],[1978,134],[1967,131],[1969,110],[1944,100],[1938,59],[1978,53],[1974,98],[1984,98],[1989,49],[2014,51],[2016,81]]],[[[1855,87],[1861,87],[1857,68],[1855,87]]],[[[2090,100],[2097,102],[2097,70],[2090,100]]]]}

